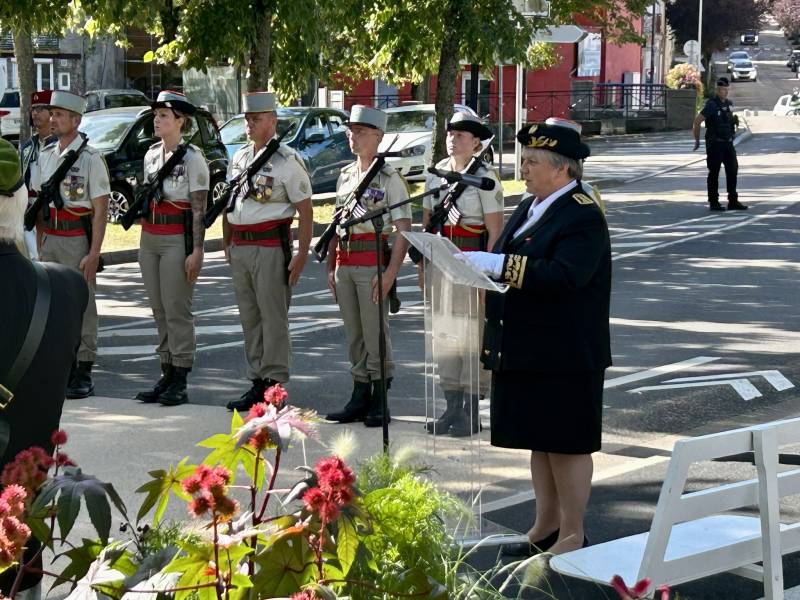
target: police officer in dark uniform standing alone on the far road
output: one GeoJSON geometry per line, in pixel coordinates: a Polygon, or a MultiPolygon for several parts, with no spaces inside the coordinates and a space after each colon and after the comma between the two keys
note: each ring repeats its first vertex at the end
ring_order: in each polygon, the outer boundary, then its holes
{"type": "Polygon", "coordinates": [[[717,93],[708,100],[692,125],[694,149],[700,147],[700,123],[706,122],[706,165],[708,166],[708,204],[710,210],[725,210],[719,203],[719,169],[725,165],[725,183],[728,188],[728,210],[747,210],[739,202],[736,192],[736,175],[739,163],[733,136],[738,117],[733,114],[733,103],[728,100],[729,83],[726,77],[717,80],[717,93]]]}

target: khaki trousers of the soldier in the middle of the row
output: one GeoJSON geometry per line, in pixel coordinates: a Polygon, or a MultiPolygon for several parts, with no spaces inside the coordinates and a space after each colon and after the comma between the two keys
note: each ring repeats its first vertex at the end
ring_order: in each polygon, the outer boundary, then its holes
{"type": "Polygon", "coordinates": [[[244,332],[248,379],[289,381],[289,304],[283,249],[231,246],[231,271],[244,332]]]}

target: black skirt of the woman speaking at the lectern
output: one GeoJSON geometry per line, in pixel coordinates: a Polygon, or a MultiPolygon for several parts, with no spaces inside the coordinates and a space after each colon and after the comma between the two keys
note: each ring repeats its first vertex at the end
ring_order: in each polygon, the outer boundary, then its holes
{"type": "Polygon", "coordinates": [[[597,452],[603,379],[603,370],[492,372],[492,446],[558,454],[597,452]]]}

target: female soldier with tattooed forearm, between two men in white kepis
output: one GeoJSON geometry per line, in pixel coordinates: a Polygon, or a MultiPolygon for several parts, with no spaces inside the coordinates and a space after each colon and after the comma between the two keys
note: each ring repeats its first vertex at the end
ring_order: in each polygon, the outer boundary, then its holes
{"type": "MultiPolygon", "coordinates": [[[[161,141],[144,157],[145,180],[154,179],[177,150],[181,133],[191,128],[196,112],[186,96],[172,91],[161,92],[152,107],[153,130],[161,141]]],[[[156,353],[162,373],[152,390],[136,395],[142,402],[176,406],[189,401],[186,377],[195,353],[192,296],[203,266],[208,186],[203,152],[189,144],[181,162],[164,179],[161,202],[151,204],[150,214],[142,220],[139,265],[158,328],[156,353]]]]}

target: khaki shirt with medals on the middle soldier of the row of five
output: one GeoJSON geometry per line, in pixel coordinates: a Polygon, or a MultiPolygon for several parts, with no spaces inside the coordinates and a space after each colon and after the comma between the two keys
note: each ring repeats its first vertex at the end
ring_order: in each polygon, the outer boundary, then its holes
{"type": "MultiPolygon", "coordinates": [[[[253,162],[253,149],[250,142],[236,151],[228,166],[228,181],[253,162]]],[[[294,205],[311,197],[311,179],[302,159],[283,144],[250,183],[250,195],[237,198],[236,208],[228,213],[228,222],[233,225],[291,219],[297,212],[294,205]]]]}

